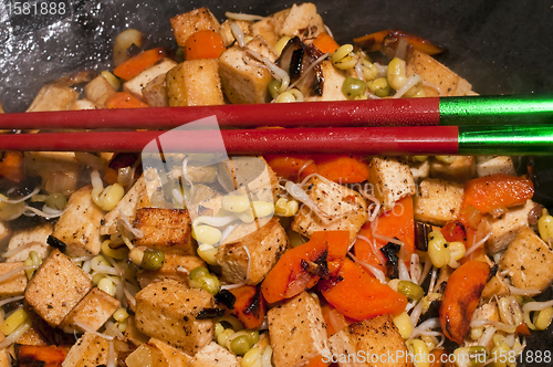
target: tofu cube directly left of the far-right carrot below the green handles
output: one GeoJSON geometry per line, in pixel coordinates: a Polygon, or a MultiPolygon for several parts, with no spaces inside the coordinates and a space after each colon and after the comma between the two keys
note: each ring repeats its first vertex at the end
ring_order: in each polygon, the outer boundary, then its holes
{"type": "Polygon", "coordinates": [[[415,220],[444,226],[459,214],[465,189],[461,184],[424,179],[414,200],[415,220]]]}

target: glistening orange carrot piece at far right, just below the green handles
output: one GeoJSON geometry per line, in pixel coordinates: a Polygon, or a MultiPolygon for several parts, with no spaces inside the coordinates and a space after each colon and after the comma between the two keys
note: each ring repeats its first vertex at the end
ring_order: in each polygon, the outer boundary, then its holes
{"type": "Polygon", "coordinates": [[[495,174],[467,181],[462,207],[472,206],[481,213],[488,213],[500,207],[522,205],[533,195],[534,186],[531,180],[495,174]]]}

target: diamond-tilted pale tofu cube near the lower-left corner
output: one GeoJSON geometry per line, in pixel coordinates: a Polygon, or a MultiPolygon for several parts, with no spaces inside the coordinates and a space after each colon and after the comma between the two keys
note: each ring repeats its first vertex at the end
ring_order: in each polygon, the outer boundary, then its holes
{"type": "Polygon", "coordinates": [[[56,327],[92,286],[88,276],[55,249],[29,281],[25,300],[50,326],[56,327]]]}

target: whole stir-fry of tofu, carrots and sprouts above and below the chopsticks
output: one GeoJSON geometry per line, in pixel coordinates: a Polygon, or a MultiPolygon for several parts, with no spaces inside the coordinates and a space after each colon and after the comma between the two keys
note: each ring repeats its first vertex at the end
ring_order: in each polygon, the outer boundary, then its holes
{"type": "MultiPolygon", "coordinates": [[[[29,111],[474,94],[399,30],[227,17],[125,30],[29,111]]],[[[2,153],[0,366],[514,366],[551,324],[553,217],[511,157],[155,158],[2,153]]]]}

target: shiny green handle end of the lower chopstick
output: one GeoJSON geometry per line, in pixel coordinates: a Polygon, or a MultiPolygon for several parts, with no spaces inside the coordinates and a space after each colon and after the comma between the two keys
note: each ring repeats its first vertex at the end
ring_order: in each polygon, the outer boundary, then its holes
{"type": "Polygon", "coordinates": [[[460,155],[553,155],[553,125],[459,126],[460,155]]]}

